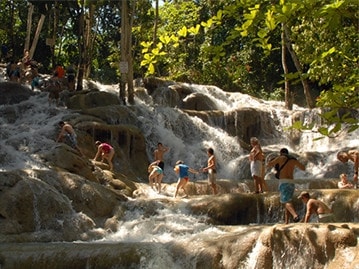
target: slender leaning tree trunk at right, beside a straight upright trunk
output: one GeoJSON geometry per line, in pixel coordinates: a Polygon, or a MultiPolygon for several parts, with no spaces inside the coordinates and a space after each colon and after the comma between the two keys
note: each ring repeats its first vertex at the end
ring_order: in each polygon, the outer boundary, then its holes
{"type": "Polygon", "coordinates": [[[309,87],[308,81],[307,81],[307,79],[303,78],[303,76],[302,76],[303,68],[299,62],[297,55],[295,54],[295,51],[292,48],[292,42],[290,40],[289,29],[285,24],[283,24],[283,29],[284,29],[285,44],[286,44],[287,49],[292,57],[295,68],[297,69],[297,71],[300,73],[300,76],[301,76],[300,80],[303,85],[304,95],[305,95],[305,100],[307,102],[307,106],[308,106],[308,108],[314,108],[314,102],[313,102],[313,98],[310,94],[310,87],[309,87]]]}

